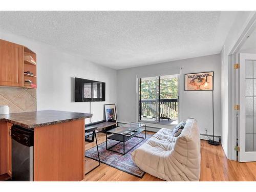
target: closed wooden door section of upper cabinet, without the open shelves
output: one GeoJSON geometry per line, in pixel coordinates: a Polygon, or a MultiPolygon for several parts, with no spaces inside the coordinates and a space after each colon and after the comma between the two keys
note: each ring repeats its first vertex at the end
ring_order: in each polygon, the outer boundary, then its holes
{"type": "Polygon", "coordinates": [[[23,46],[0,39],[0,86],[23,87],[23,46]]]}

